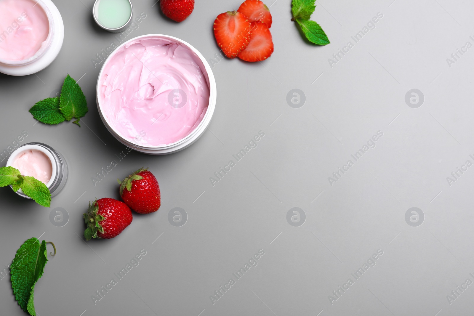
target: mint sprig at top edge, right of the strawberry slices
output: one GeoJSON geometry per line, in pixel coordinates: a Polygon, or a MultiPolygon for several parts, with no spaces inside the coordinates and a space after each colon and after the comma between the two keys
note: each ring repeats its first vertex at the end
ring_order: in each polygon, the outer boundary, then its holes
{"type": "Polygon", "coordinates": [[[316,9],[316,0],[292,0],[292,21],[300,26],[304,36],[316,45],[328,45],[329,39],[321,26],[311,21],[311,15],[316,9]]]}

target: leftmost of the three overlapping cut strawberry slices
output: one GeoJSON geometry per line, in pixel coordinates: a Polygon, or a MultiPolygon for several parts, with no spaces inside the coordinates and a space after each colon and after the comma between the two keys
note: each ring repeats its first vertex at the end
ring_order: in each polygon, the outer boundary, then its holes
{"type": "Polygon", "coordinates": [[[236,58],[247,47],[251,32],[248,18],[237,11],[221,13],[214,21],[217,45],[229,58],[236,58]]]}

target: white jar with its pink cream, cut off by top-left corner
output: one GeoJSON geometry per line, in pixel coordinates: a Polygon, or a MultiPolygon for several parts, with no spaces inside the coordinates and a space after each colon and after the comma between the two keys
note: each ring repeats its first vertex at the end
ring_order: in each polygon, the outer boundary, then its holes
{"type": "Polygon", "coordinates": [[[0,72],[24,76],[45,69],[63,39],[63,18],[51,0],[0,0],[0,72]]]}

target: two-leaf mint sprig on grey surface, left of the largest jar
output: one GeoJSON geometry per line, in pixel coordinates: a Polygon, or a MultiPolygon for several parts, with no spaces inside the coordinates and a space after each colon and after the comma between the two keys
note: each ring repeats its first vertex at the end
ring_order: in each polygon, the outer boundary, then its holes
{"type": "Polygon", "coordinates": [[[68,74],[59,97],[41,100],[30,108],[29,112],[41,123],[55,125],[76,118],[73,123],[81,126],[79,120],[88,110],[81,87],[68,74]]]}

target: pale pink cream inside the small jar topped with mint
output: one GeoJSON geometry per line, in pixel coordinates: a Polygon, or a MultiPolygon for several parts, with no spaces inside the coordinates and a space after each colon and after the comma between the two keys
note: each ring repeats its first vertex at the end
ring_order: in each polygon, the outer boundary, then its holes
{"type": "Polygon", "coordinates": [[[53,166],[46,154],[39,150],[29,149],[18,154],[11,163],[13,168],[24,176],[34,177],[45,184],[51,179],[53,166]]]}

